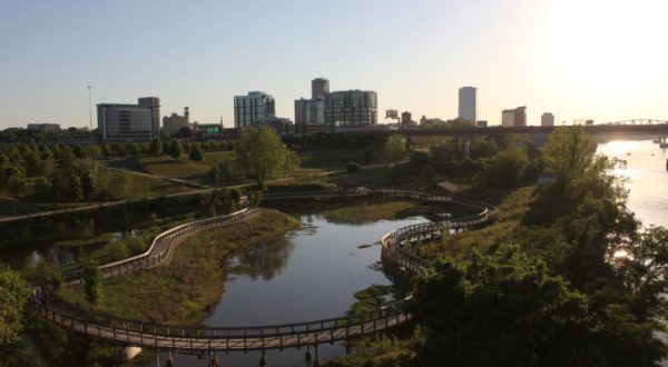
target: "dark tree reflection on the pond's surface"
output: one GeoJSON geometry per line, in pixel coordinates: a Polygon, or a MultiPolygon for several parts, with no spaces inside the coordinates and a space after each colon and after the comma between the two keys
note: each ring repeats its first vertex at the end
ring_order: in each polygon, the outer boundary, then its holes
{"type": "Polygon", "coordinates": [[[294,248],[295,244],[282,236],[240,254],[237,260],[250,278],[269,280],[285,268],[294,248]]]}

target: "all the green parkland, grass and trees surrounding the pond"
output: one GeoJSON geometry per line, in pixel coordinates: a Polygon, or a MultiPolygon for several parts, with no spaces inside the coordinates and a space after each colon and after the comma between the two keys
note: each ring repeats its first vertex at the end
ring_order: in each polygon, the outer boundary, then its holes
{"type": "MultiPolygon", "coordinates": [[[[1,249],[9,264],[0,267],[0,276],[6,284],[17,285],[2,288],[9,289],[4,299],[13,302],[11,309],[21,310],[6,318],[8,327],[0,329],[11,340],[2,350],[14,350],[2,356],[24,361],[21,356],[38,354],[46,360],[42,365],[48,365],[76,346],[72,350],[87,356],[87,364],[107,360],[100,356],[108,354],[110,344],[94,345],[55,331],[28,310],[20,289],[36,279],[57,285],[62,270],[81,266],[99,270],[99,264],[140,254],[167,228],[238,209],[242,195],[257,206],[267,191],[355,190],[360,186],[450,190],[452,182],[458,184],[459,196],[495,208],[489,221],[444,232],[436,240],[404,245],[430,261],[421,276],[411,276],[396,264],[374,264],[395,287],[372,285],[356,291],[348,315],[375,311],[395,288],[402,288],[402,294],[413,295],[403,305],[411,320],[384,337],[351,341],[353,353],[331,366],[441,366],[443,360],[455,366],[518,361],[525,366],[652,366],[668,351],[655,338],[667,317],[668,235],[664,228],[640,226],[626,207],[623,187],[610,173],[619,162],[592,155],[582,128],[556,129],[544,147],[522,136],[409,141],[394,135],[347,141],[317,135],[282,140],[269,128],[249,128],[233,150],[207,150],[195,155],[196,159],[169,153],[167,148],[160,153],[151,152],[155,149],[149,146],[137,149],[136,155],[127,153],[134,150],[129,147],[125,155],[98,159],[61,147],[3,150],[2,190],[14,200],[35,206],[131,200],[87,214],[0,226],[1,249]],[[551,179],[539,185],[539,175],[544,172],[551,179]],[[166,197],[195,191],[186,182],[166,179],[179,176],[216,187],[242,186],[243,190],[166,197]],[[443,186],[444,181],[449,185],[443,186]],[[143,200],[153,196],[159,197],[143,200]],[[53,251],[41,251],[36,265],[35,249],[40,246],[77,248],[79,254],[69,262],[58,262],[53,251]],[[629,256],[618,257],[620,251],[629,256]],[[57,338],[50,337],[56,334],[57,338]]],[[[328,220],[360,224],[471,214],[448,205],[365,199],[369,202],[354,206],[335,200],[316,200],[316,205],[326,207],[328,220]]],[[[189,238],[178,246],[168,266],[96,281],[86,278],[85,287],[58,291],[87,310],[196,325],[220,299],[229,276],[258,271],[253,264],[234,265],[230,258],[250,247],[268,246],[298,226],[281,211],[261,212],[253,220],[189,238]]],[[[373,246],[357,248],[371,251],[367,247],[373,246]]],[[[279,244],[266,251],[283,256],[279,244]]]]}

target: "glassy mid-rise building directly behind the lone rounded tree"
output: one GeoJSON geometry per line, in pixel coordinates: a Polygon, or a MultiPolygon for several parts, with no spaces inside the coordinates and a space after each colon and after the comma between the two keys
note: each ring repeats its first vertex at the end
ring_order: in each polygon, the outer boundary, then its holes
{"type": "Polygon", "coordinates": [[[274,97],[252,91],[247,96],[234,97],[234,127],[245,128],[250,125],[263,125],[276,116],[274,97]]]}

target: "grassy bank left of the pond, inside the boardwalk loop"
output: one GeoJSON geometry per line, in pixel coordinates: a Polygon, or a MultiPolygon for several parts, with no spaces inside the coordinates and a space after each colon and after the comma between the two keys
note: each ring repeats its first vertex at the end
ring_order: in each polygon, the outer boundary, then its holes
{"type": "MultiPolygon", "coordinates": [[[[262,209],[257,219],[199,235],[181,244],[168,266],[105,281],[105,299],[97,309],[151,323],[200,323],[223,295],[225,258],[244,247],[263,244],[298,226],[298,220],[262,209]]],[[[61,292],[87,305],[84,289],[61,292]]]]}

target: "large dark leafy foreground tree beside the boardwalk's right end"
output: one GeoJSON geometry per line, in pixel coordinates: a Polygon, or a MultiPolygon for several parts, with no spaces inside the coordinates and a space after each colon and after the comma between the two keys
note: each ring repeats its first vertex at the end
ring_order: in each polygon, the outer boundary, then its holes
{"type": "Polygon", "coordinates": [[[410,305],[422,335],[414,366],[581,366],[587,298],[518,246],[444,259],[410,305]]]}

